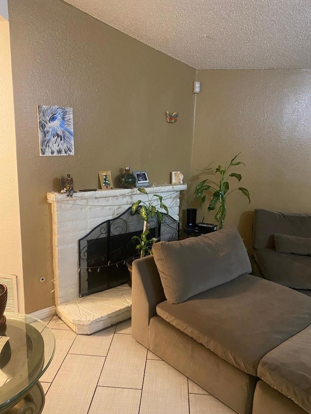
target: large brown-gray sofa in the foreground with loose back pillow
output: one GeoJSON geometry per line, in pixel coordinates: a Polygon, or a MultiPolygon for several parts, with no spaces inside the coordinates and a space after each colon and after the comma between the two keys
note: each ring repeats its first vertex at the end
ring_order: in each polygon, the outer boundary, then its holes
{"type": "Polygon", "coordinates": [[[132,336],[239,414],[311,413],[311,298],[252,276],[237,229],[134,261],[132,336]]]}

